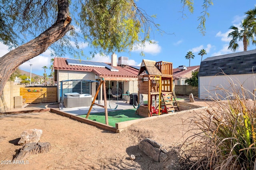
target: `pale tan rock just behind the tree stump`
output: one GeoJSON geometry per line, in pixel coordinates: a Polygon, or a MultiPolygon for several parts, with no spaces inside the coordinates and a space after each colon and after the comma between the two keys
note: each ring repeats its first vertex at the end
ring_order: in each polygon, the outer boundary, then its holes
{"type": "Polygon", "coordinates": [[[19,145],[32,143],[32,142],[39,142],[40,137],[42,135],[42,130],[40,129],[28,129],[24,130],[21,134],[20,141],[18,142],[19,145]]]}

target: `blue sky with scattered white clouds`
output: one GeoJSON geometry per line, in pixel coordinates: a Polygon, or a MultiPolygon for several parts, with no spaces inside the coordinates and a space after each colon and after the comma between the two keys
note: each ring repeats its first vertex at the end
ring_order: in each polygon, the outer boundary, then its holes
{"type": "MultiPolygon", "coordinates": [[[[244,13],[255,7],[254,0],[213,0],[214,5],[210,6],[208,12],[209,17],[206,17],[206,30],[203,36],[198,30],[198,17],[202,12],[202,2],[194,1],[194,13],[190,14],[187,9],[184,10],[185,16],[182,16],[181,0],[139,0],[137,6],[142,8],[148,15],[156,14],[154,22],[160,24],[160,29],[166,33],[161,34],[157,30],[153,30],[151,40],[154,44],[146,43],[143,51],[145,56],[141,56],[141,49],[131,52],[116,53],[117,57],[128,57],[129,65],[140,65],[142,59],[154,61],[167,61],[173,63],[173,68],[179,65],[189,66],[189,60],[185,58],[188,51],[192,51],[194,59],[190,60],[190,66],[200,65],[201,56],[198,55],[201,49],[205,49],[207,55],[203,56],[203,60],[207,57],[213,57],[228,53],[233,53],[228,50],[228,44],[231,38],[228,34],[232,31],[230,26],[239,26],[244,13]]],[[[87,44],[83,45],[84,53],[90,57],[90,47],[87,44]]],[[[250,44],[248,50],[256,49],[256,46],[250,44]]],[[[240,48],[236,51],[243,51],[242,42],[240,48]]],[[[0,43],[0,56],[8,53],[8,47],[0,43]]],[[[102,57],[96,55],[91,61],[101,61],[111,63],[111,54],[102,57]]],[[[41,55],[30,59],[20,65],[20,69],[24,71],[43,75],[43,66],[50,68],[50,51],[46,50],[41,55]],[[32,64],[30,66],[30,64],[32,64]]],[[[65,58],[74,58],[71,55],[66,55],[65,58]]],[[[82,60],[88,58],[81,57],[82,60]]],[[[50,69],[46,69],[47,75],[50,74],[50,69]]]]}

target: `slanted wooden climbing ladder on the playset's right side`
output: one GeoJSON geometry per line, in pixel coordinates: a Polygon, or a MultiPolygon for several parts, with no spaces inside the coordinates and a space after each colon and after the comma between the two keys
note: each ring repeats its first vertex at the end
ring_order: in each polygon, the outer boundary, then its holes
{"type": "Polygon", "coordinates": [[[175,108],[179,109],[179,103],[177,101],[176,95],[173,92],[170,93],[161,93],[162,97],[162,105],[164,109],[162,109],[162,113],[170,113],[175,112],[175,108]]]}

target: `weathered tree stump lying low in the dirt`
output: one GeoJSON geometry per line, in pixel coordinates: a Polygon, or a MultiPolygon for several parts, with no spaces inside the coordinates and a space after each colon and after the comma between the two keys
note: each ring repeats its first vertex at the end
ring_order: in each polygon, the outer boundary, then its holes
{"type": "Polygon", "coordinates": [[[30,155],[47,153],[50,151],[51,144],[49,142],[33,142],[22,146],[18,155],[13,160],[24,160],[30,155]]]}

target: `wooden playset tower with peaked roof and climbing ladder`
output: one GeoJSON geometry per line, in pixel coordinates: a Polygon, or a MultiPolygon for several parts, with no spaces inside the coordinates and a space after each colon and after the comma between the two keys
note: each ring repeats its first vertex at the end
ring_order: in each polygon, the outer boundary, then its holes
{"type": "MultiPolygon", "coordinates": [[[[172,113],[179,104],[173,91],[172,63],[166,61],[142,60],[138,73],[138,96],[148,96],[148,104],[142,104],[138,115],[151,117],[172,113]]],[[[138,97],[138,103],[143,103],[138,97]]]]}

